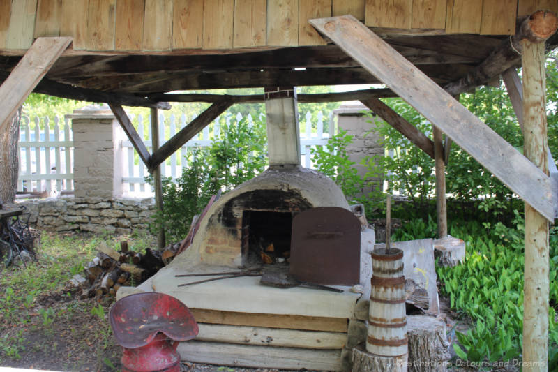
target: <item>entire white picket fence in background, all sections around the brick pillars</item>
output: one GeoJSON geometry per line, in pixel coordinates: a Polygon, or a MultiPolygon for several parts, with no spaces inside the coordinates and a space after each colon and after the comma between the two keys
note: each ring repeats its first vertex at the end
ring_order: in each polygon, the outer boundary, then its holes
{"type": "MultiPolygon", "coordinates": [[[[230,113],[224,115],[223,119],[227,124],[231,122],[234,124],[243,118],[241,114],[237,114],[236,117],[233,117],[230,113]]],[[[252,117],[248,114],[246,119],[248,124],[251,125],[252,117]]],[[[50,129],[51,119],[47,117],[43,119],[36,117],[33,120],[22,117],[19,143],[20,172],[17,180],[17,191],[47,191],[51,195],[62,191],[73,191],[73,137],[70,122],[69,119],[61,121],[58,117],[54,117],[52,120],[54,121],[53,130],[50,129]]],[[[137,117],[133,120],[137,121],[137,132],[144,140],[147,149],[151,151],[150,118],[137,117]]],[[[173,114],[169,117],[168,122],[166,121],[163,113],[161,113],[160,124],[167,124],[159,126],[161,144],[186,126],[189,120],[185,115],[177,118],[173,114]]],[[[172,177],[172,179],[180,177],[182,167],[187,165],[186,156],[189,149],[191,151],[197,147],[210,146],[213,139],[218,137],[220,133],[220,121],[221,118],[216,119],[212,124],[206,126],[202,133],[198,133],[192,140],[186,142],[181,149],[167,158],[164,166],[161,164],[163,177],[172,177]]],[[[312,118],[311,113],[307,112],[304,119],[301,118],[300,121],[301,164],[307,168],[312,168],[310,149],[327,144],[327,140],[333,133],[333,112],[327,118],[324,118],[322,112],[318,112],[316,118],[312,118]],[[316,122],[314,129],[312,129],[312,119],[316,122]],[[328,131],[326,133],[324,133],[324,119],[327,119],[328,131]]],[[[130,141],[123,141],[121,147],[125,154],[123,159],[123,189],[129,195],[152,193],[151,187],[145,182],[145,177],[149,173],[139,160],[139,156],[130,141]]]]}

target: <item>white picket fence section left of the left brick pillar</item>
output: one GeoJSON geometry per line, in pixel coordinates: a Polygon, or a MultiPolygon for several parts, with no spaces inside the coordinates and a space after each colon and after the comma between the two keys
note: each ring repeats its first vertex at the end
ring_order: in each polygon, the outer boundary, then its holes
{"type": "Polygon", "coordinates": [[[48,117],[36,117],[33,124],[31,131],[29,117],[22,117],[17,191],[72,191],[73,141],[68,119],[61,122],[54,117],[54,130],[50,129],[48,117]]]}

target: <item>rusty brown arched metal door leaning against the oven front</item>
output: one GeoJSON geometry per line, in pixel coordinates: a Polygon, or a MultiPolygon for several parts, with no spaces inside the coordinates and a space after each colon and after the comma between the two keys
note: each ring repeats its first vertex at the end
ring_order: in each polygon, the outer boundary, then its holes
{"type": "Polygon", "coordinates": [[[360,282],[361,223],[347,209],[317,207],[292,221],[290,274],[327,285],[360,282]]]}

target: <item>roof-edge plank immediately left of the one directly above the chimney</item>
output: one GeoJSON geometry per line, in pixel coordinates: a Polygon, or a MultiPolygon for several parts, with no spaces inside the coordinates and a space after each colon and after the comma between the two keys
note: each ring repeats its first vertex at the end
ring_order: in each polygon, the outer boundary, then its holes
{"type": "Polygon", "coordinates": [[[266,45],[266,0],[234,1],[234,47],[266,45]]]}

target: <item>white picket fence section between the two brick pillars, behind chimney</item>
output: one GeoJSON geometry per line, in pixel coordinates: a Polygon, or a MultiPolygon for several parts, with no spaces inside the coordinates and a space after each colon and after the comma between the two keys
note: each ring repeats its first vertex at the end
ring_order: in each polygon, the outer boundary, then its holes
{"type": "MultiPolygon", "coordinates": [[[[192,119],[194,119],[194,117],[192,119]]],[[[231,124],[231,122],[234,124],[235,121],[238,122],[241,119],[243,119],[243,116],[240,113],[236,114],[236,117],[233,117],[230,113],[225,114],[225,122],[227,125],[231,124]]],[[[333,113],[329,115],[328,119],[328,123],[333,124],[333,113]]],[[[248,114],[246,120],[248,121],[248,125],[251,126],[253,119],[250,114],[248,114]]],[[[305,119],[300,122],[301,164],[306,168],[312,168],[313,166],[310,149],[327,144],[327,140],[333,135],[334,130],[334,126],[329,125],[329,131],[324,133],[324,114],[322,114],[322,112],[317,113],[315,120],[317,120],[315,130],[312,130],[312,114],[310,112],[307,112],[305,119]]],[[[137,132],[144,140],[147,149],[151,152],[151,119],[149,117],[146,119],[137,117],[137,121],[137,132]]],[[[163,114],[160,114],[159,123],[163,123],[164,121],[165,117],[163,114]]],[[[181,115],[179,119],[171,115],[169,121],[168,126],[159,126],[159,139],[161,143],[169,140],[169,138],[188,124],[188,120],[184,114],[181,115]],[[179,123],[177,123],[177,121],[179,121],[179,123]],[[169,128],[169,131],[165,131],[165,128],[169,128]]],[[[189,149],[191,151],[197,147],[210,146],[213,139],[219,136],[220,121],[221,117],[217,118],[213,123],[209,124],[209,126],[206,126],[201,133],[198,133],[195,137],[186,142],[179,151],[176,151],[172,156],[167,158],[165,163],[161,164],[162,176],[172,177],[172,179],[180,177],[183,165],[187,165],[189,149]]],[[[143,163],[139,161],[139,156],[137,156],[132,143],[130,141],[123,141],[122,147],[127,149],[125,151],[127,154],[127,166],[123,176],[124,190],[128,190],[129,193],[151,193],[150,185],[145,182],[145,177],[148,174],[147,169],[143,163]],[[126,188],[126,185],[128,185],[128,188],[126,188]]]]}

